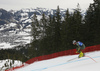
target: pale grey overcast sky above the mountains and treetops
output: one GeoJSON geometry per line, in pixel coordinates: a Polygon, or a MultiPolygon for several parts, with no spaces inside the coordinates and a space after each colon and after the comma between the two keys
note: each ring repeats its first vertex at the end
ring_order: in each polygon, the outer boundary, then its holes
{"type": "Polygon", "coordinates": [[[0,0],[0,8],[6,10],[19,10],[22,8],[50,8],[56,9],[59,5],[60,8],[76,8],[80,4],[81,9],[88,8],[93,0],[0,0]]]}

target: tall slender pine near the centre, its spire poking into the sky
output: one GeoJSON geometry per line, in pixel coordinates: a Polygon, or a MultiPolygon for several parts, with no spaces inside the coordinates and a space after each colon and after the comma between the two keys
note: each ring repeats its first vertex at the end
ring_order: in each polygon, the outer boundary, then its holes
{"type": "Polygon", "coordinates": [[[59,51],[59,48],[61,46],[61,15],[60,15],[60,9],[59,6],[57,7],[57,11],[55,14],[55,34],[54,34],[54,43],[55,43],[55,50],[59,51]]]}

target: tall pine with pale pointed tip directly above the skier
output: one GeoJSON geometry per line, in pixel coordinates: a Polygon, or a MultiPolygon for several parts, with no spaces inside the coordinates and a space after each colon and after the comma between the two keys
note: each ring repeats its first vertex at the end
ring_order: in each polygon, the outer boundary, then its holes
{"type": "Polygon", "coordinates": [[[82,25],[82,15],[81,15],[81,9],[79,4],[77,5],[77,8],[74,11],[73,14],[73,31],[74,31],[74,39],[80,40],[82,38],[80,36],[80,27],[82,25]]]}

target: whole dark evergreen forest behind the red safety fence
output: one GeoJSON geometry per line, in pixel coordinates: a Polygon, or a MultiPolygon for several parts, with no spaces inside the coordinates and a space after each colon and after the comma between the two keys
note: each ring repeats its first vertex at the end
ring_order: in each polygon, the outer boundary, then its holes
{"type": "Polygon", "coordinates": [[[54,15],[46,16],[43,13],[40,20],[34,13],[31,26],[31,46],[21,50],[0,50],[1,59],[27,61],[33,57],[75,49],[73,40],[83,42],[86,47],[100,44],[100,1],[94,0],[85,16],[79,4],[73,12],[67,9],[63,19],[59,6],[54,15]]]}

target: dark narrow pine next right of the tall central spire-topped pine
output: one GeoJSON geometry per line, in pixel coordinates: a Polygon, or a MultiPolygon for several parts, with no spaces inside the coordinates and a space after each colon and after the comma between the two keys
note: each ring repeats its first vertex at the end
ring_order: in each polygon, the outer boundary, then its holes
{"type": "Polygon", "coordinates": [[[69,9],[67,9],[65,16],[64,16],[64,21],[62,22],[61,25],[61,42],[62,42],[62,50],[69,49],[69,40],[68,40],[68,32],[69,32],[69,26],[70,24],[70,14],[69,14],[69,9]]]}

